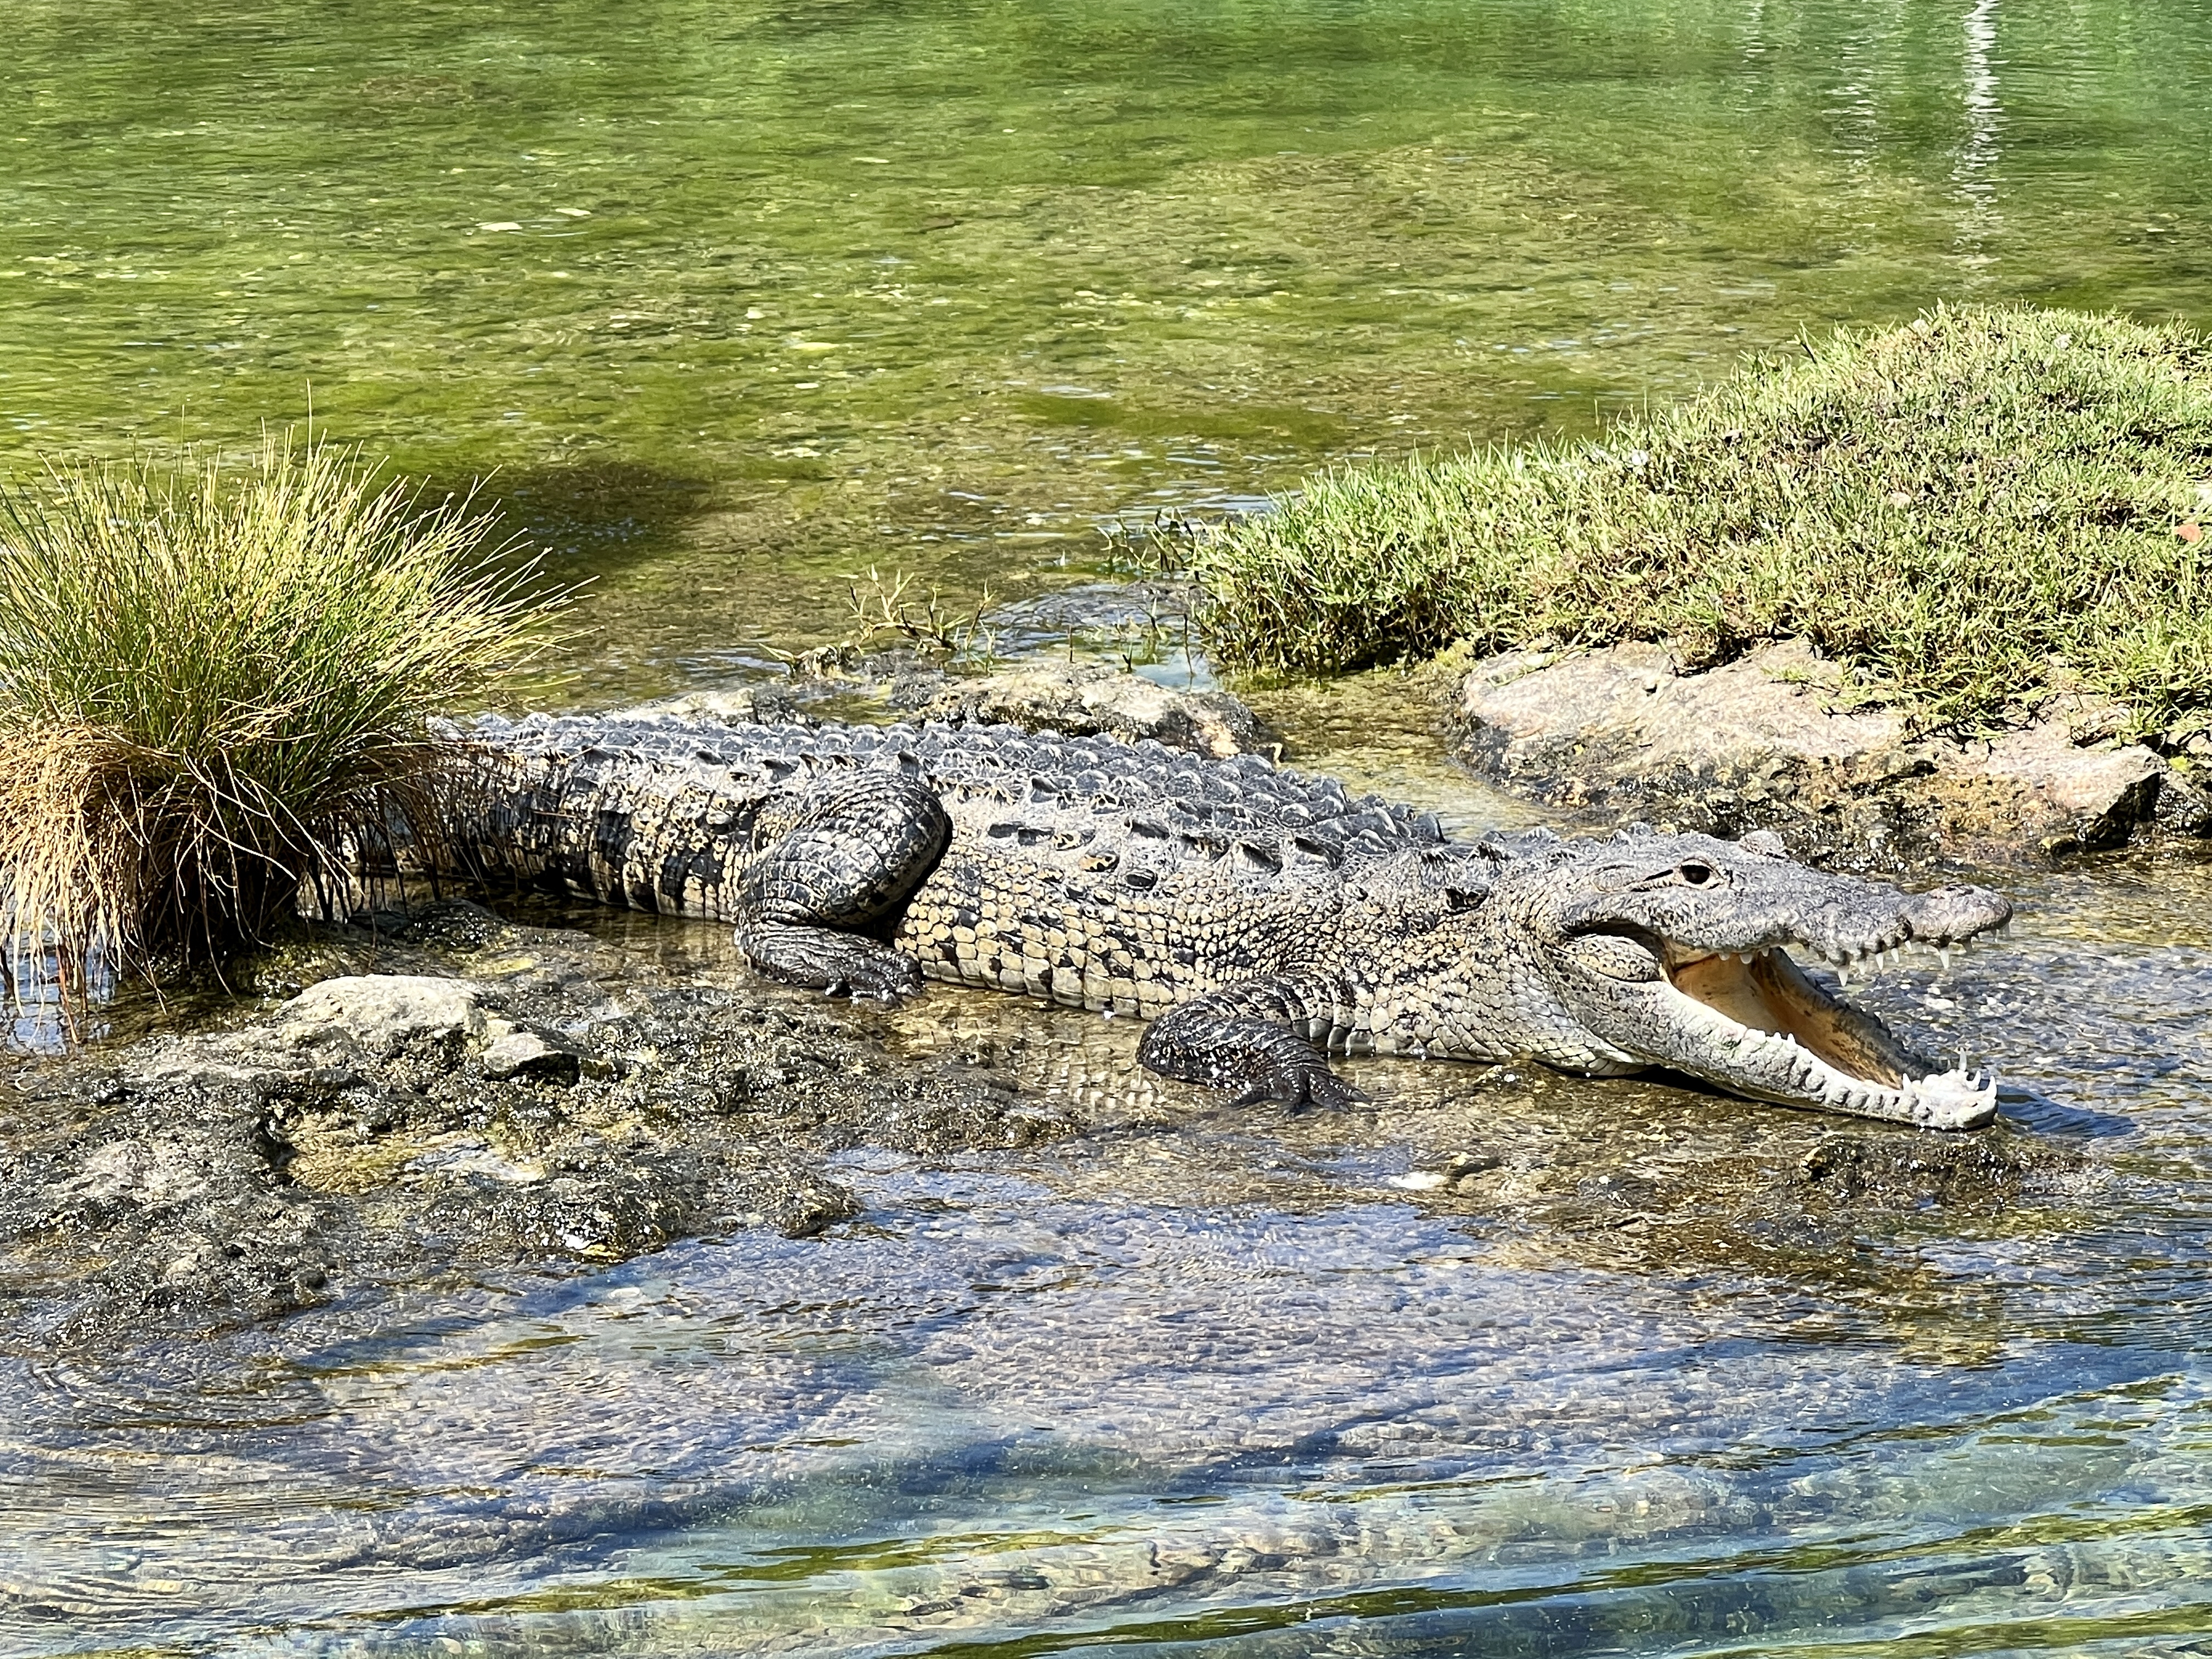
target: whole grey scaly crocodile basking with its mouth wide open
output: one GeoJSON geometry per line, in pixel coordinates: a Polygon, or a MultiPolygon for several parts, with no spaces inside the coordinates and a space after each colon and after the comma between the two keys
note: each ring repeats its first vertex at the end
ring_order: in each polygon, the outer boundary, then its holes
{"type": "Polygon", "coordinates": [[[1239,1102],[1347,1106],[1332,1055],[1688,1073],[1929,1128],[1995,1115],[1834,969],[2011,920],[1774,834],[1460,838],[1263,757],[1011,726],[482,717],[438,865],[732,922],[763,973],[925,980],[1148,1020],[1139,1060],[1239,1102]]]}

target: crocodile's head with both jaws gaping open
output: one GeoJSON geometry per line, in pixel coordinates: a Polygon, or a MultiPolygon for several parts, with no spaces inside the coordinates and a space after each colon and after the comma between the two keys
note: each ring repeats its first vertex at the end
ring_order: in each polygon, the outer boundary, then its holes
{"type": "MultiPolygon", "coordinates": [[[[1995,1079],[1911,1053],[1816,984],[1792,951],[1838,969],[1924,945],[1949,951],[2011,920],[1984,887],[1905,894],[1792,860],[1772,834],[1626,834],[1582,843],[1509,905],[1553,995],[1601,1048],[1783,1106],[1975,1128],[1995,1079]]],[[[1500,898],[1506,894],[1500,891],[1500,898]]]]}

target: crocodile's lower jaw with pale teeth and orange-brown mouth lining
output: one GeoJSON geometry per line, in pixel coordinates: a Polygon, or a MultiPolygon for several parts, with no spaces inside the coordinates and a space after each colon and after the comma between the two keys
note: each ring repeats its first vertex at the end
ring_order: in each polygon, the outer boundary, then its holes
{"type": "Polygon", "coordinates": [[[1995,1077],[1933,1071],[1781,949],[1670,960],[1661,998],[1694,1035],[1692,1068],[1734,1093],[1924,1128],[1980,1128],[1997,1113],[1995,1077]]]}

